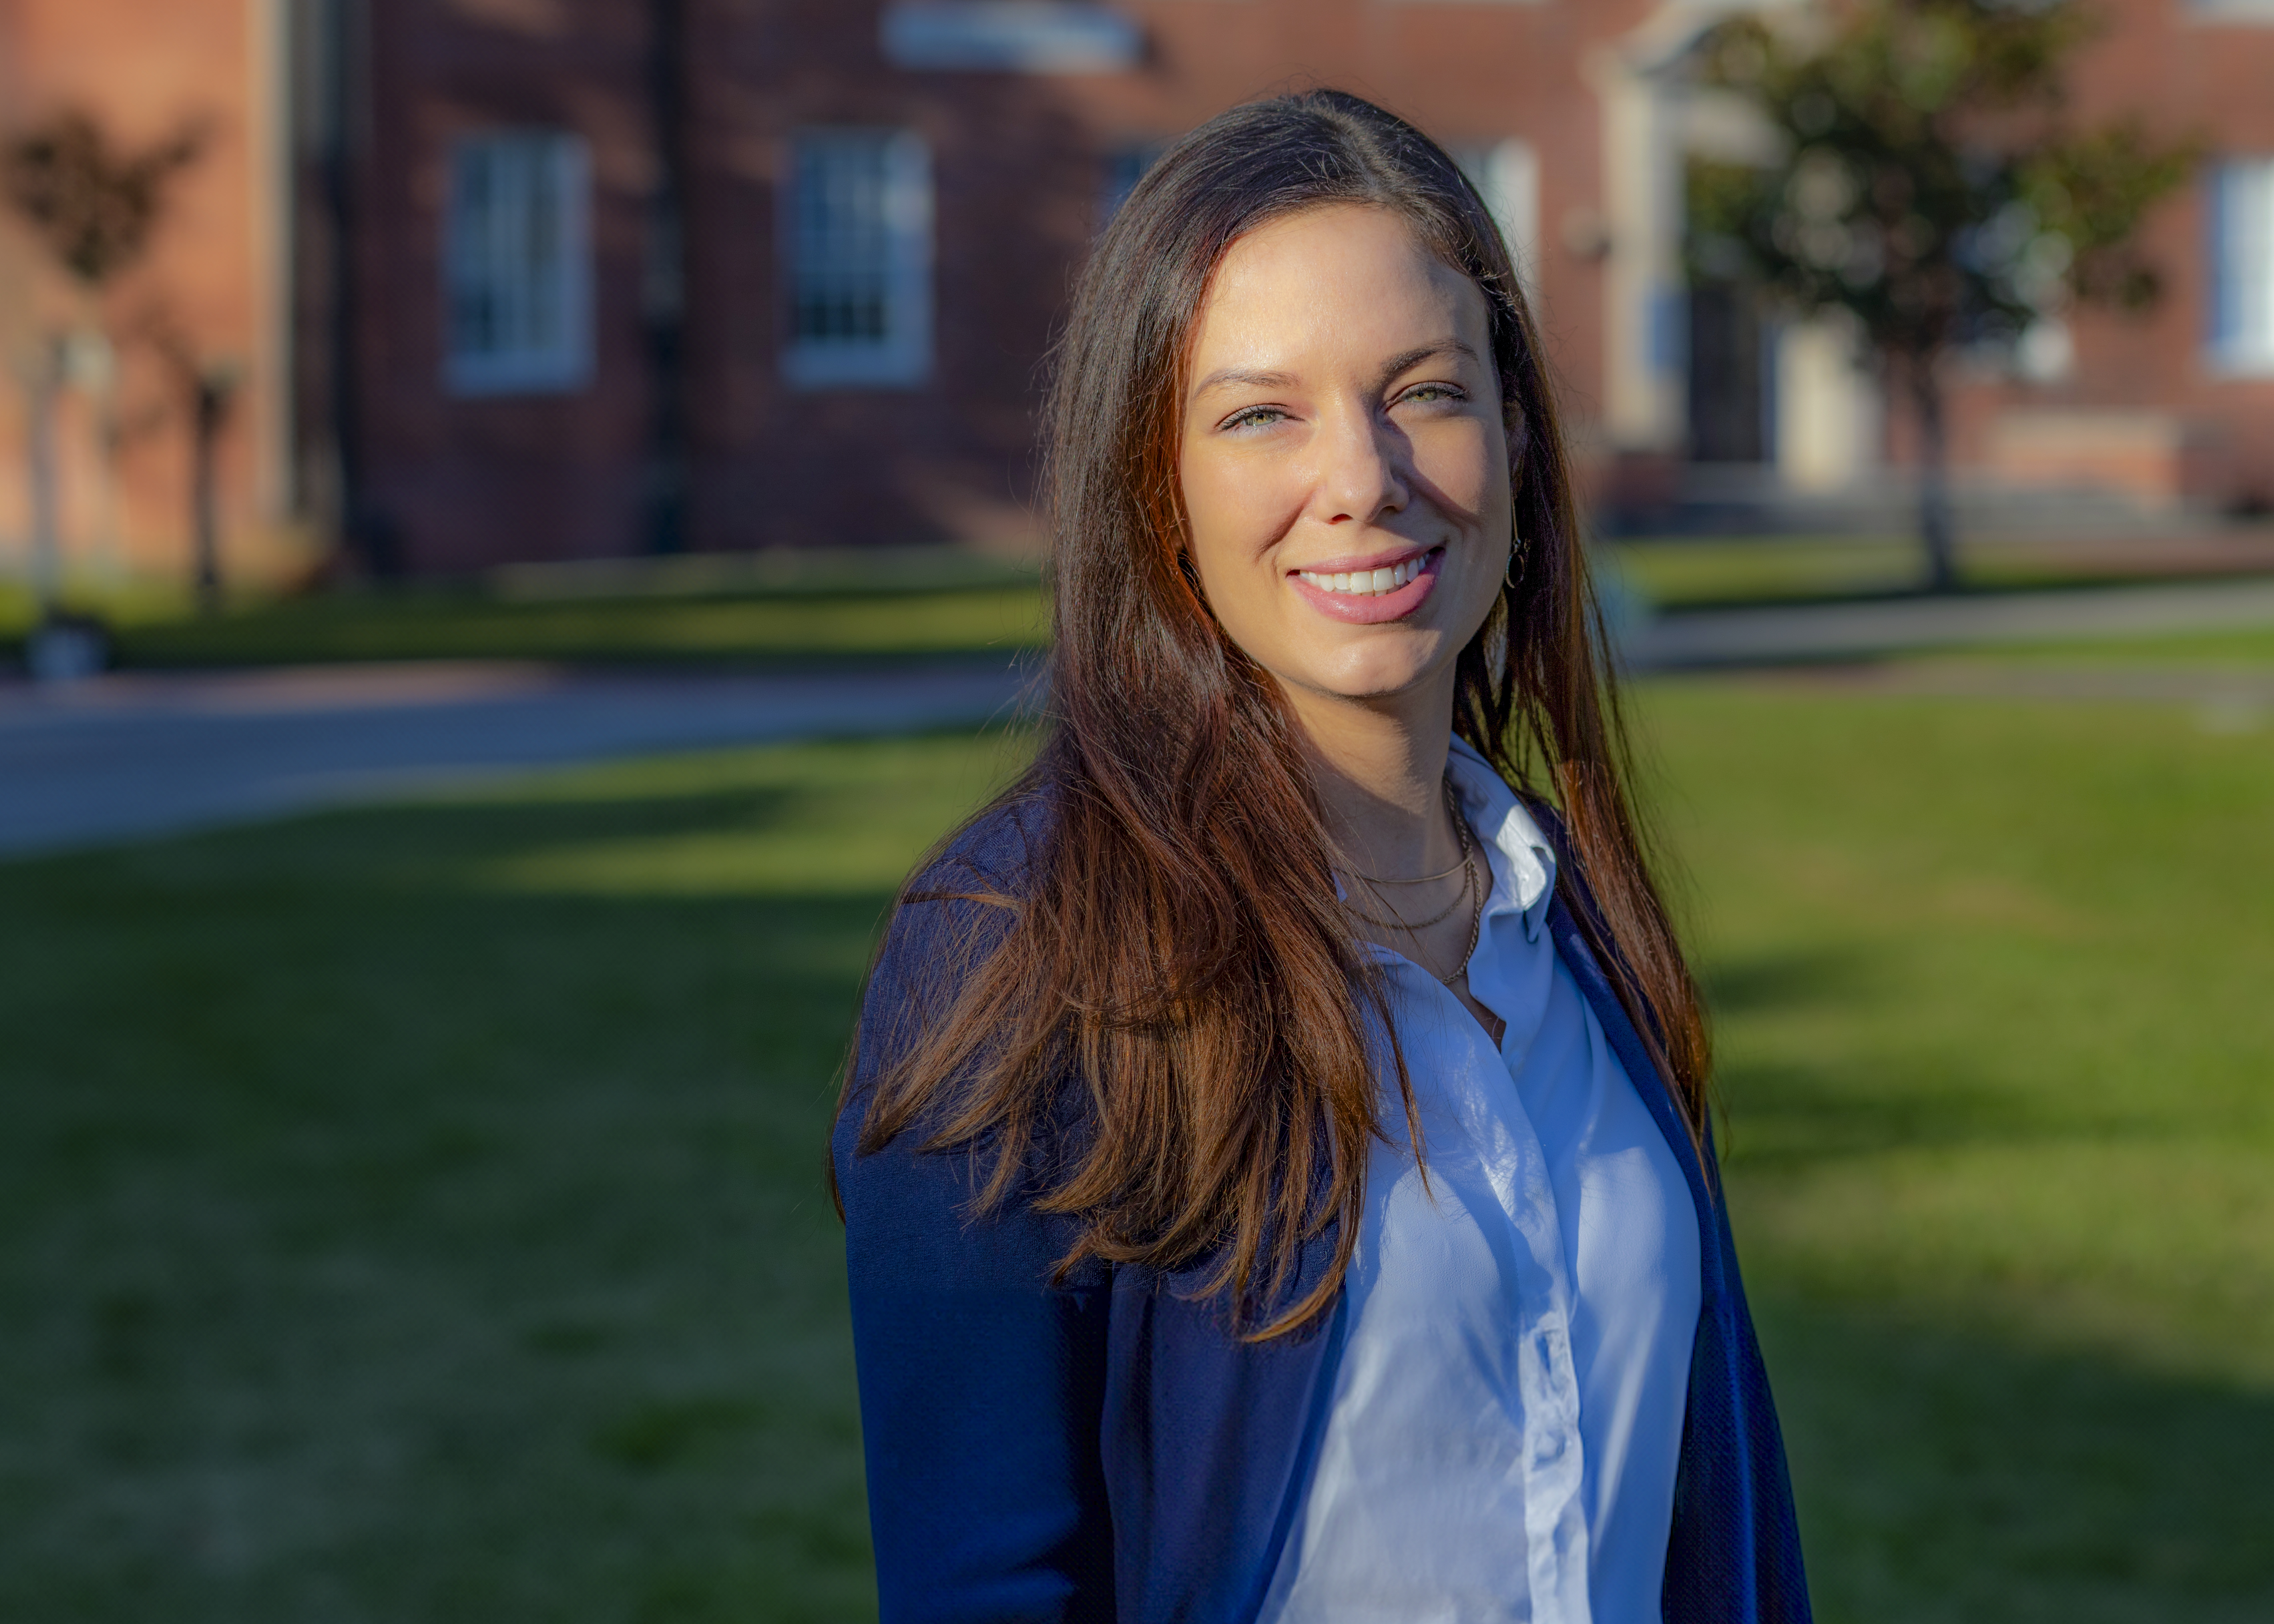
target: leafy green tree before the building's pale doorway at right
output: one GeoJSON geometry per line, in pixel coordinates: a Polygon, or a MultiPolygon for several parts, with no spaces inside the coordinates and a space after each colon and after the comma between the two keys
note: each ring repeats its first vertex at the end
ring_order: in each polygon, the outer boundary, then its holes
{"type": "Polygon", "coordinates": [[[2072,298],[2160,293],[2140,221],[2194,164],[2135,118],[2078,130],[2065,66],[2076,0],[1828,0],[1724,23],[1703,80],[1769,125],[1774,161],[1699,161],[1694,273],[1742,266],[1801,314],[1846,312],[1919,430],[1919,539],[1958,585],[1942,362],[2010,346],[2072,298]]]}

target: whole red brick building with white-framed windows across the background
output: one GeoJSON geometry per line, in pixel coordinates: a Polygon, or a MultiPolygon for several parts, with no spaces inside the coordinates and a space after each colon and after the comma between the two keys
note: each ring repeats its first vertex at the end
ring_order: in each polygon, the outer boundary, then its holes
{"type": "MultiPolygon", "coordinates": [[[[1694,453],[1765,489],[1869,487],[1890,434],[1835,334],[1731,366],[1728,334],[1692,332],[1683,155],[1726,109],[1685,55],[1731,9],[0,0],[0,111],[86,93],[148,123],[164,96],[116,64],[164,55],[136,73],[234,118],[216,200],[152,271],[232,289],[214,341],[255,357],[232,530],[300,516],[377,569],[1014,539],[1053,323],[1117,191],[1294,84],[1373,96],[1471,166],[1610,500],[1694,453]]],[[[2031,378],[1972,364],[1960,462],[2147,503],[2274,494],[2274,0],[2103,9],[2078,111],[2201,132],[2213,159],[2149,227],[2163,305],[2040,334],[2031,378]]],[[[177,462],[134,475],[159,553],[177,462]]],[[[0,539],[9,503],[0,475],[0,539]]]]}

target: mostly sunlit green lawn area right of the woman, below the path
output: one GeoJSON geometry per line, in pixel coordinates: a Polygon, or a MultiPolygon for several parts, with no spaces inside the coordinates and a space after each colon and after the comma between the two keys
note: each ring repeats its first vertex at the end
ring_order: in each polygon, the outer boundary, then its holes
{"type": "Polygon", "coordinates": [[[2274,739],[1646,719],[1821,1615],[2274,1615],[2274,739]]]}

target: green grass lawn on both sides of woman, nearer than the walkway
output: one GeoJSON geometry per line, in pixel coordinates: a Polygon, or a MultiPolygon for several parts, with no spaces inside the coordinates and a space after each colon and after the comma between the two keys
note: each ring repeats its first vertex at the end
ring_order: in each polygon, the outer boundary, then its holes
{"type": "MultiPolygon", "coordinates": [[[[2274,737],[1640,712],[1819,1615],[2274,1615],[2274,737]]],[[[0,867],[0,1617],[864,1617],[832,1069],[1012,748],[0,867]]]]}

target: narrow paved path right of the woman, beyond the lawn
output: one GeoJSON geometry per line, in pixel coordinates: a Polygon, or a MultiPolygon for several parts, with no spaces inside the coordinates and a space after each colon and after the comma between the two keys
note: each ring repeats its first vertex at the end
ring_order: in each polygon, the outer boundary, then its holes
{"type": "Polygon", "coordinates": [[[2274,625],[2274,580],[1696,610],[1633,628],[1626,657],[1662,671],[2254,625],[2274,625]]]}

